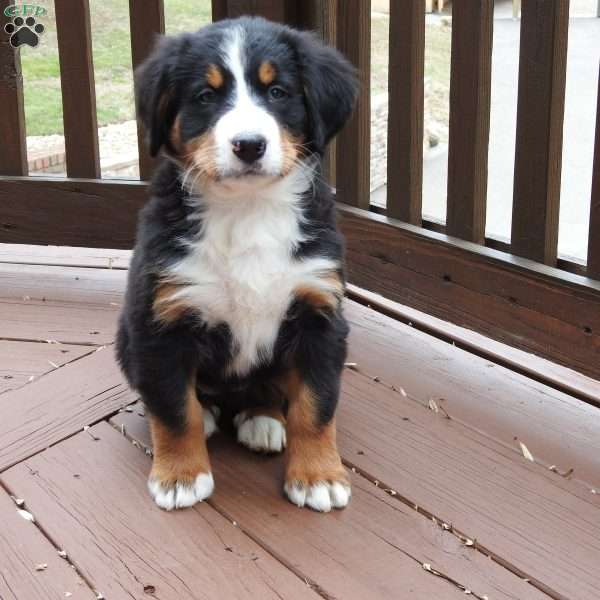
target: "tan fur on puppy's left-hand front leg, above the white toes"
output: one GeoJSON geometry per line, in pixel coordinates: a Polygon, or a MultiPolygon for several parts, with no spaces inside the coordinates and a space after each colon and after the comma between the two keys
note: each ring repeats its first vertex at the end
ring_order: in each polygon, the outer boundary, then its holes
{"type": "Polygon", "coordinates": [[[156,417],[149,417],[154,447],[150,477],[165,487],[175,482],[191,485],[201,473],[210,473],[202,405],[192,383],[186,394],[185,420],[184,430],[176,433],[156,417]]]}

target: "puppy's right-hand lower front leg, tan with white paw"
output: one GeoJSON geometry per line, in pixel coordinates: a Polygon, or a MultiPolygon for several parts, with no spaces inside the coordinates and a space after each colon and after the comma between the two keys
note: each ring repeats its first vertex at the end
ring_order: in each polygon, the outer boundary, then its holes
{"type": "Polygon", "coordinates": [[[350,500],[350,480],[337,450],[335,417],[327,415],[335,409],[339,381],[311,386],[293,370],[286,383],[285,493],[298,506],[323,512],[344,508],[350,500]],[[327,397],[332,394],[335,397],[327,397]],[[333,410],[327,406],[331,403],[333,410]]]}

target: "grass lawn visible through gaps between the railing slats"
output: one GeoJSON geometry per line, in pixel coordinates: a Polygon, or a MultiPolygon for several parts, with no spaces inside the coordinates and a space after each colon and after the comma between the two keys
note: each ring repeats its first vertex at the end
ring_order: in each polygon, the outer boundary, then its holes
{"type": "MultiPolygon", "coordinates": [[[[37,48],[21,48],[28,135],[62,133],[62,97],[56,25],[52,2],[37,48]]],[[[211,20],[210,0],[164,0],[167,33],[194,30],[211,20]]],[[[98,125],[134,118],[131,45],[127,0],[90,0],[98,125]]],[[[387,17],[375,17],[372,30],[372,86],[387,89],[389,48],[387,17]]],[[[425,74],[431,83],[430,109],[436,119],[448,118],[450,28],[427,26],[425,74]]]]}

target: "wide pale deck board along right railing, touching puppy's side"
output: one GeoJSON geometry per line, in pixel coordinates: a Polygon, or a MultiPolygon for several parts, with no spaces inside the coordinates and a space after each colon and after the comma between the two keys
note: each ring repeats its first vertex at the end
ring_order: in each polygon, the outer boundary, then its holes
{"type": "Polygon", "coordinates": [[[457,421],[599,485],[598,409],[524,375],[348,301],[349,361],[427,405],[443,398],[457,421]]]}

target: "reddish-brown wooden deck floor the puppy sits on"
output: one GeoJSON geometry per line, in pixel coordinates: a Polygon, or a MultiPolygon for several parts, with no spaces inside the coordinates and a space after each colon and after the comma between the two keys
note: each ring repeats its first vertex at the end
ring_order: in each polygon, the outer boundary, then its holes
{"type": "Polygon", "coordinates": [[[597,600],[600,384],[364,295],[346,302],[348,509],[289,504],[281,458],[222,434],[214,496],[156,508],[112,347],[128,258],[0,245],[2,600],[597,600]]]}

